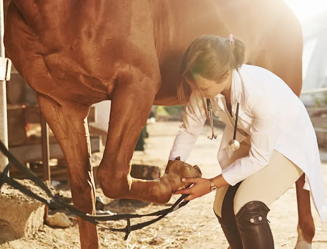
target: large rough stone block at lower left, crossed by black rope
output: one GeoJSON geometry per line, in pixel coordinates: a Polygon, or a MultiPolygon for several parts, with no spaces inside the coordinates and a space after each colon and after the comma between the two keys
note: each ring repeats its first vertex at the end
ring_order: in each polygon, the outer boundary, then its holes
{"type": "MultiPolygon", "coordinates": [[[[30,180],[17,181],[34,193],[44,195],[30,180]]],[[[0,203],[0,244],[30,237],[43,225],[45,205],[19,190],[4,184],[0,189],[0,203]]]]}

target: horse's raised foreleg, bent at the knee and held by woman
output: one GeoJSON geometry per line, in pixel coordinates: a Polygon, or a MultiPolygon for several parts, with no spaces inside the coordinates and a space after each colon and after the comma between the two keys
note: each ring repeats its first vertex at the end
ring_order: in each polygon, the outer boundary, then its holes
{"type": "Polygon", "coordinates": [[[133,67],[123,75],[117,79],[112,95],[108,136],[97,179],[103,193],[112,199],[168,202],[172,192],[180,187],[177,185],[181,183],[181,175],[196,177],[199,176],[198,171],[185,166],[177,172],[171,167],[171,173],[158,180],[146,181],[131,177],[134,148],[160,87],[160,76],[149,78],[133,67]]]}

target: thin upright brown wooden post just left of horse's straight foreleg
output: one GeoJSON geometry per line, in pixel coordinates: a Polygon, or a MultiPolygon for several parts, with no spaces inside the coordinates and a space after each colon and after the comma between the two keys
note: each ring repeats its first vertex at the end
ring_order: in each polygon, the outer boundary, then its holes
{"type": "MultiPolygon", "coordinates": [[[[51,172],[49,166],[49,126],[42,114],[40,112],[41,118],[41,146],[42,146],[42,167],[43,167],[43,181],[48,181],[48,186],[50,186],[51,172]]],[[[49,207],[45,207],[44,221],[47,222],[49,207]]]]}

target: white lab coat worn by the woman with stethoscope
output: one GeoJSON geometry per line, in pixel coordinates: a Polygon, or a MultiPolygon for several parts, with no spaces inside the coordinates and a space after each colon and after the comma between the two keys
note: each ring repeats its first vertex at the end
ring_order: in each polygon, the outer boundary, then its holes
{"type": "MultiPolygon", "coordinates": [[[[186,161],[206,121],[202,102],[197,105],[193,94],[190,102],[199,108],[195,108],[194,119],[184,114],[183,124],[170,152],[170,160],[180,156],[181,160],[186,161]]],[[[304,188],[311,190],[315,208],[324,222],[327,204],[315,131],[305,106],[287,84],[262,67],[244,64],[239,73],[233,71],[233,117],[226,108],[222,94],[213,97],[211,103],[213,114],[226,124],[217,158],[222,175],[229,185],[234,186],[268,165],[275,149],[305,172],[304,188]],[[237,102],[240,106],[236,140],[241,142],[248,134],[251,138],[251,149],[249,156],[240,158],[227,167],[227,161],[232,155],[228,143],[233,138],[237,102]]]]}

